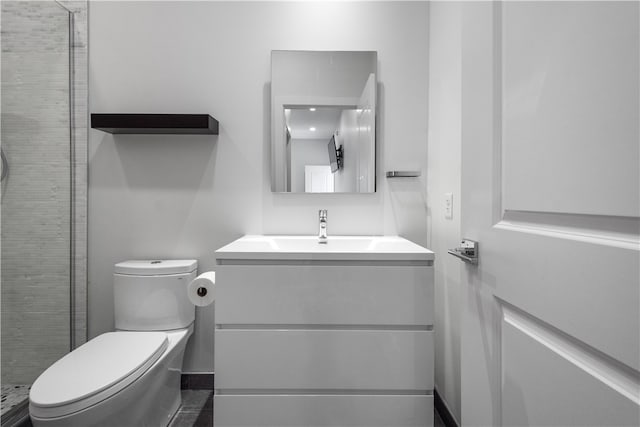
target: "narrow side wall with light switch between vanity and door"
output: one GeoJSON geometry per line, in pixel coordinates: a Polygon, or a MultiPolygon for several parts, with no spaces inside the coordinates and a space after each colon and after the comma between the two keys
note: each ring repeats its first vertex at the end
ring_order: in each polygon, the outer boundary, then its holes
{"type": "Polygon", "coordinates": [[[460,261],[447,254],[460,236],[461,6],[429,8],[429,247],[436,253],[435,386],[460,424],[460,261]],[[445,219],[444,194],[453,193],[445,219]]]}

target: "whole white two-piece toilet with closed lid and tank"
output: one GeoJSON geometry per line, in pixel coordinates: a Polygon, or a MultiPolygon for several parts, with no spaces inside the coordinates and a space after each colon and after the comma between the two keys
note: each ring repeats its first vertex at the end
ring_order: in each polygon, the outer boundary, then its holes
{"type": "Polygon", "coordinates": [[[197,261],[115,265],[116,332],[51,365],[29,394],[34,426],[165,426],[180,407],[180,375],[195,306],[197,261]]]}

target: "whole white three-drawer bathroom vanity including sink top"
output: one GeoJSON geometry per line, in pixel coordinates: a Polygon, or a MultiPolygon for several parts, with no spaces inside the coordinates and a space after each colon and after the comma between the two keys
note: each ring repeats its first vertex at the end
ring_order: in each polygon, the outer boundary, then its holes
{"type": "Polygon", "coordinates": [[[216,427],[433,424],[433,252],[245,236],[216,259],[216,427]]]}

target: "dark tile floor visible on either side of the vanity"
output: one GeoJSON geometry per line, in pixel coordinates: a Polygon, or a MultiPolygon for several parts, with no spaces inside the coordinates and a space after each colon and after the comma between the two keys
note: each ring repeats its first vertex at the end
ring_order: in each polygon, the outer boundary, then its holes
{"type": "MultiPolygon", "coordinates": [[[[434,427],[445,427],[436,412],[434,427]]],[[[212,427],[213,426],[213,391],[182,390],[182,408],[169,424],[169,427],[212,427]]]]}

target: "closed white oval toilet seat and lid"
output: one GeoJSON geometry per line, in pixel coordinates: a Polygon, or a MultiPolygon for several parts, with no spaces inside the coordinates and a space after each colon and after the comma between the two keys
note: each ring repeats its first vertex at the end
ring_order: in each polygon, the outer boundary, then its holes
{"type": "Polygon", "coordinates": [[[30,412],[41,418],[81,411],[118,393],[165,352],[165,332],[108,332],[51,365],[33,383],[30,412]]]}

